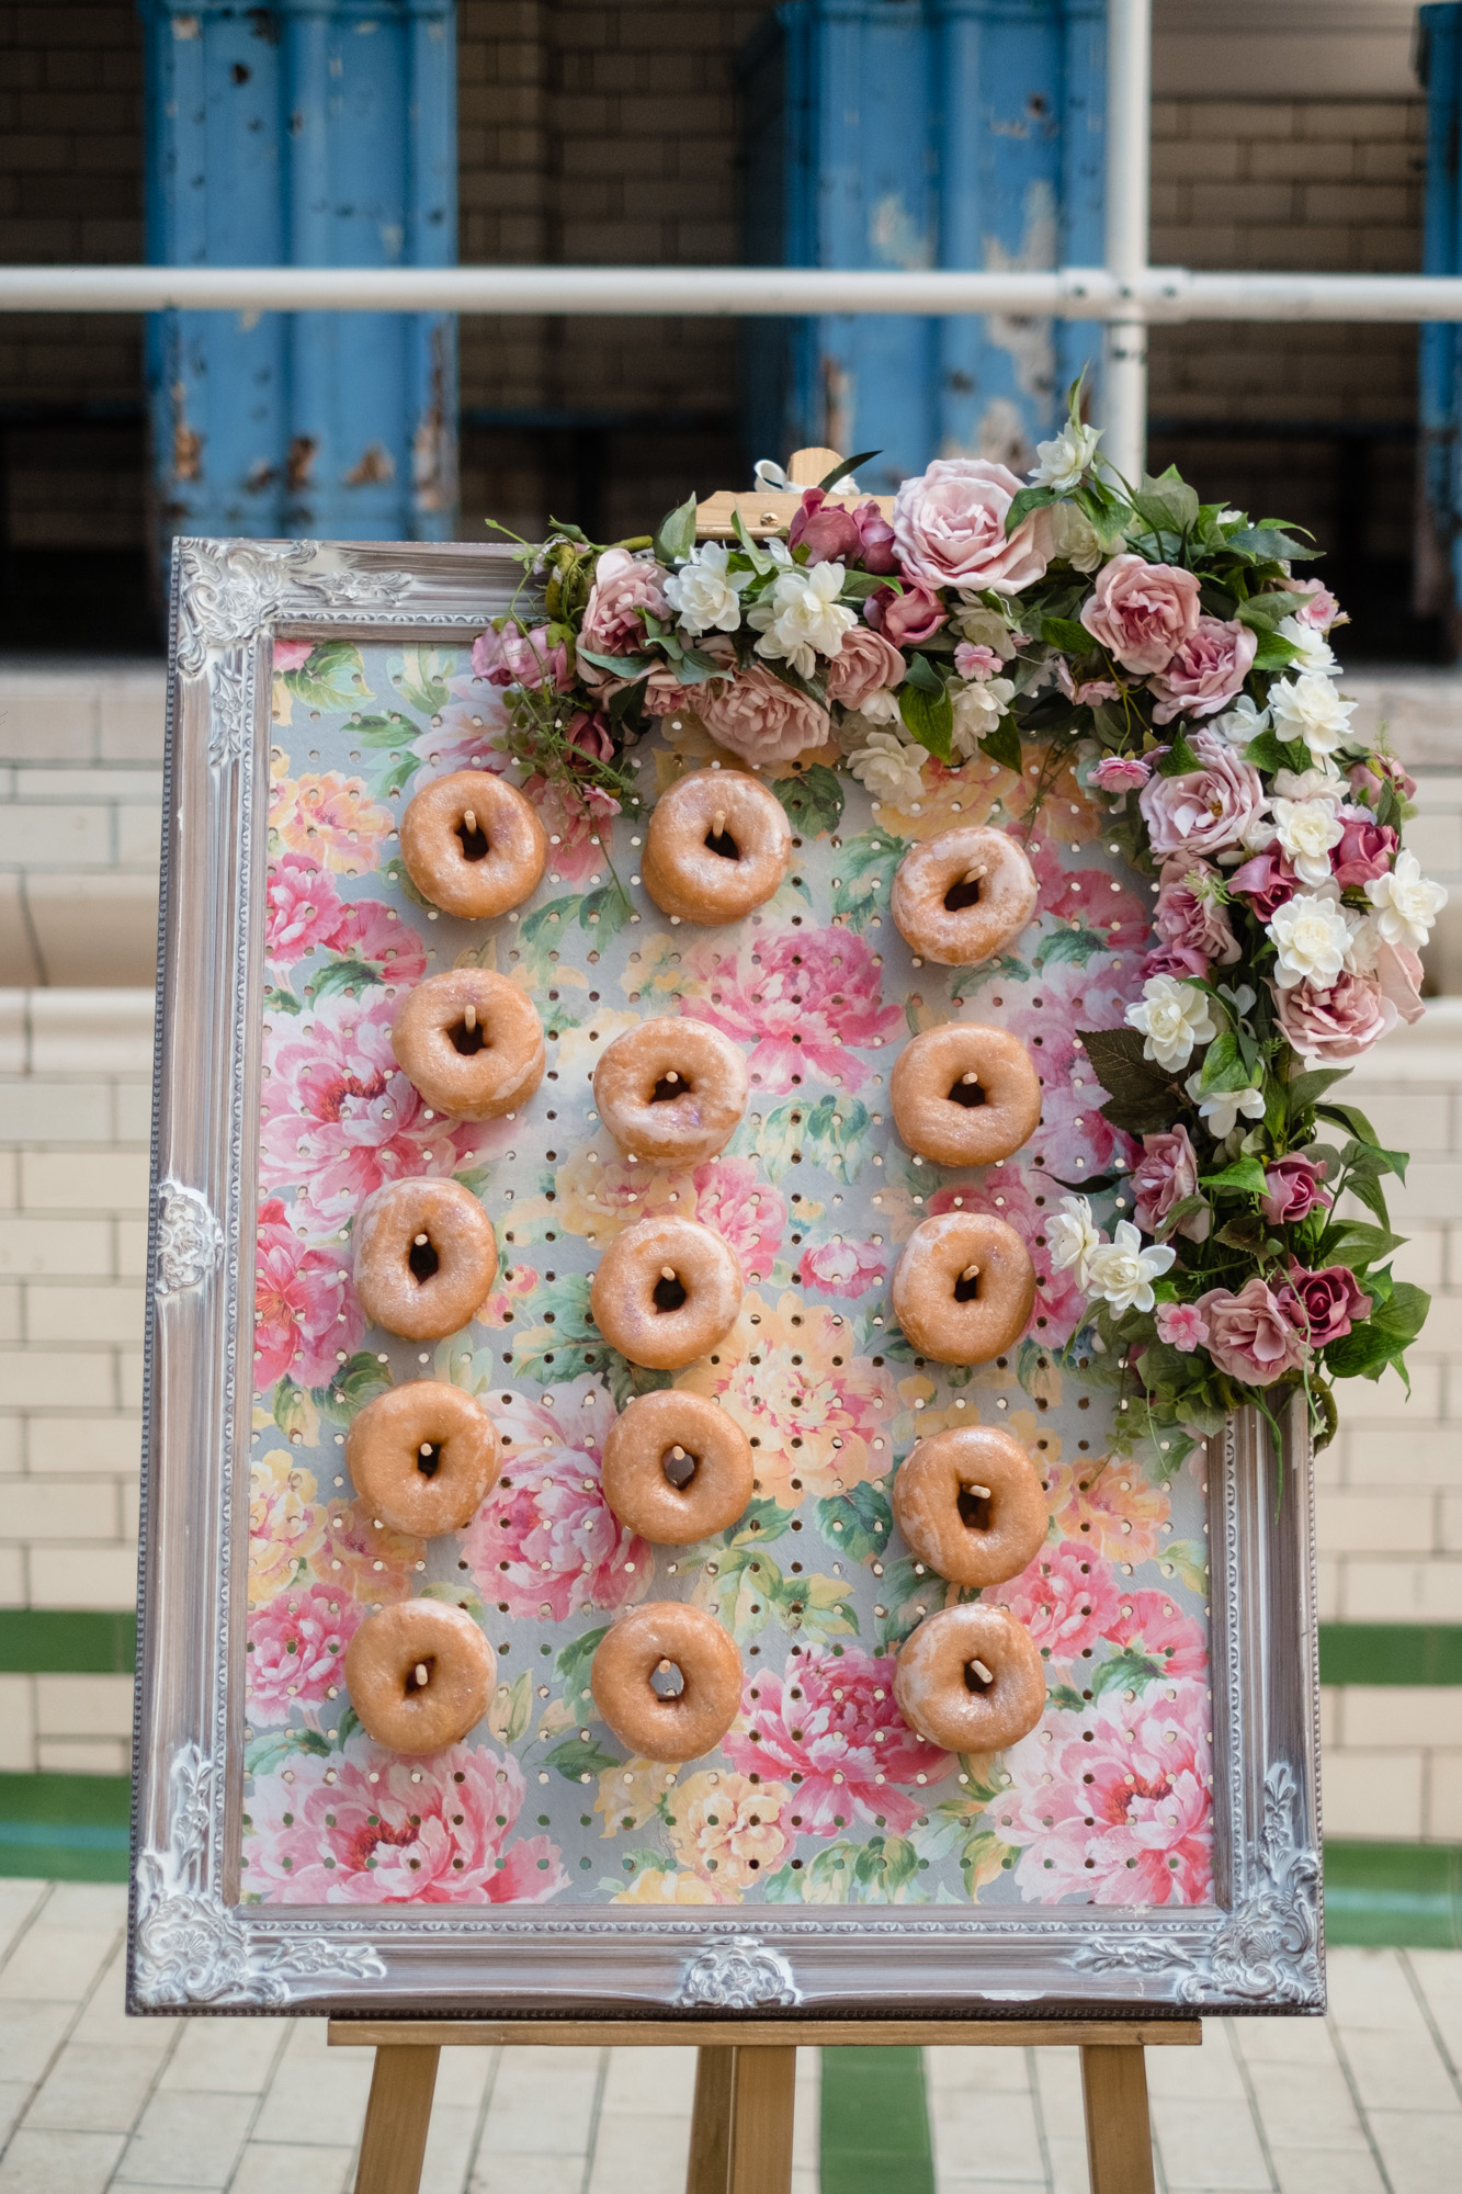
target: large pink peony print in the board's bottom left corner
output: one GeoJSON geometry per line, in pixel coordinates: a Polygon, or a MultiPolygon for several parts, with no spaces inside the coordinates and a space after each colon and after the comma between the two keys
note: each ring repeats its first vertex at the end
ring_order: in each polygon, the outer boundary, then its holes
{"type": "Polygon", "coordinates": [[[490,1744],[400,1760],[353,1738],[342,1753],[294,1757],[283,1773],[255,1779],[244,1896],[263,1904],[547,1904],[569,1876],[549,1836],[509,1843],[525,1788],[511,1753],[490,1744]]]}

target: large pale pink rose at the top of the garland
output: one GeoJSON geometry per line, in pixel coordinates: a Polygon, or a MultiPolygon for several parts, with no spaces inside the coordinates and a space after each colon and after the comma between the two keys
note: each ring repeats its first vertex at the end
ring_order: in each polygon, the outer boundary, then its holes
{"type": "MultiPolygon", "coordinates": [[[[937,456],[893,496],[893,540],[904,577],[937,592],[1019,595],[1045,577],[1049,518],[1032,511],[1005,533],[1021,494],[1014,472],[983,456],[937,456]]],[[[1196,581],[1194,581],[1196,586],[1196,581]]]]}

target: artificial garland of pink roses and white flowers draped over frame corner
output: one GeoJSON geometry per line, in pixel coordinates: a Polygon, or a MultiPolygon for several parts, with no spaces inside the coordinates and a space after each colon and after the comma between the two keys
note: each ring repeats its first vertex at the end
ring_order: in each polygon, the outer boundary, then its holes
{"type": "Polygon", "coordinates": [[[898,805],[929,757],[1021,772],[1023,742],[1036,805],[1062,768],[1106,794],[1155,946],[1126,1027],[1082,1036],[1133,1143],[1045,1224],[1091,1310],[1071,1347],[1111,1356],[1172,1466],[1236,1406],[1278,1428],[1295,1391],[1324,1444],[1332,1380],[1405,1378],[1429,1308],[1392,1277],[1383,1178],[1405,1154],[1330,1090],[1420,1016],[1447,893],[1403,845],[1412,779],[1350,733],[1339,603],[1293,577],[1313,551],[1174,470],[1128,487],[1098,441],[1078,384],[1030,485],[937,459],[891,518],[830,500],[836,476],[808,489],[786,538],[735,520],[698,544],[694,498],[654,540],[558,527],[518,548],[540,614],[498,619],[472,660],[518,759],[593,827],[632,799],[623,750],[678,711],[751,770],[839,748],[898,805]],[[1133,1215],[1104,1233],[1117,1189],[1133,1215]]]}

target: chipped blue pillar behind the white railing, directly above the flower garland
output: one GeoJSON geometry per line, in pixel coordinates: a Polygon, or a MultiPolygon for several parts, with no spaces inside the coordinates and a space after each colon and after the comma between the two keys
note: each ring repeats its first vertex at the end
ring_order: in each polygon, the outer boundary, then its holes
{"type": "MultiPolygon", "coordinates": [[[[742,61],[746,259],[843,268],[1102,261],[1104,0],[786,0],[742,61]]],[[[880,450],[1027,465],[1091,327],[1027,316],[760,323],[753,456],[880,450]]]]}

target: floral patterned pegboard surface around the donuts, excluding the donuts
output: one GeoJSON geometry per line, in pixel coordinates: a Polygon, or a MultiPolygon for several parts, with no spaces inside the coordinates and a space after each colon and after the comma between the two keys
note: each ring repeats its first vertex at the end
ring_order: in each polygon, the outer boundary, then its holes
{"type": "Polygon", "coordinates": [[[685,717],[632,757],[639,812],[566,821],[529,781],[551,869],[514,917],[463,924],[411,891],[397,823],[430,777],[509,768],[503,728],[465,654],[277,647],[244,1898],[1210,1902],[1205,1457],[1172,1470],[1115,1437],[1120,1371],[1043,1237],[1060,1185],[1131,1161],[1076,1042],[1122,1022],[1148,932],[1104,814],[1071,777],[983,759],[926,766],[931,796],[902,812],[803,757],[777,785],[799,832],[777,897],[735,928],[676,926],[639,884],[643,821],[681,768],[731,761],[685,717]],[[1041,880],[1036,921],[979,970],[918,965],[887,915],[904,847],[955,821],[1014,829],[1041,880]],[[406,992],[463,961],[518,981],[549,1031],[516,1121],[432,1117],[391,1055],[406,992]],[[709,1165],[626,1165],[588,1077],[621,1029],[676,1011],[744,1047],[749,1115],[709,1165]],[[911,1158],[887,1110],[900,1044],[955,1016],[1010,1027],[1045,1082],[1032,1143],[966,1176],[911,1158]],[[426,1352],[367,1327],[349,1281],[360,1200],[411,1174],[468,1183],[501,1246],[474,1325],[426,1352]],[[1014,1224],[1038,1275],[1027,1336],[975,1371],[915,1360],[889,1310],[900,1244],[957,1205],[1014,1224]],[[667,1209],[746,1275],[735,1332],[674,1378],[746,1426],[757,1490],[689,1549],[645,1545],[599,1494],[617,1406],[672,1376],[606,1349],[588,1277],[667,1209]],[[481,1395],[505,1441],[498,1488],[443,1540],[375,1527],[345,1474],[351,1415],[408,1378],[481,1395]],[[1032,1448],[1051,1505],[1038,1560],[990,1591],[1036,1637],[1049,1705],[994,1757],[918,1740],[891,1696],[900,1641],[970,1597],[909,1558],[891,1479],[915,1437],[970,1422],[1032,1448]],[[465,1606],[498,1654],[487,1722],[428,1760],[371,1744],[342,1683],[356,1626],[411,1593],[465,1606]],[[746,1670],[722,1751],[683,1768],[626,1760],[588,1694],[599,1635],[645,1597],[711,1608],[746,1670]]]}

